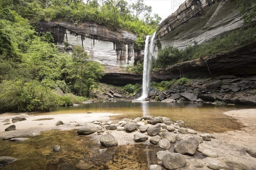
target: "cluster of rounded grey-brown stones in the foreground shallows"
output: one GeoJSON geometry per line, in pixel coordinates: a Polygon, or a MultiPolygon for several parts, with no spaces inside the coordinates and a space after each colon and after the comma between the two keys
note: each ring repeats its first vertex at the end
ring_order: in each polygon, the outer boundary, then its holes
{"type": "MultiPolygon", "coordinates": [[[[143,116],[136,119],[122,119],[121,121],[95,121],[83,125],[77,130],[77,133],[90,135],[97,132],[98,135],[101,135],[99,142],[105,147],[118,145],[116,137],[111,134],[113,130],[133,134],[134,142],[147,143],[149,141],[151,144],[157,144],[163,149],[156,155],[161,164],[151,165],[150,170],[160,170],[163,167],[168,170],[175,170],[189,166],[184,155],[194,156],[196,153],[200,153],[203,158],[194,160],[195,168],[206,165],[213,170],[229,169],[227,164],[216,159],[218,153],[199,147],[199,144],[204,141],[215,139],[214,136],[210,133],[197,135],[195,130],[181,127],[183,124],[182,120],[172,122],[166,117],[143,116]]],[[[254,152],[251,154],[254,156],[255,149],[249,150],[254,152]]],[[[248,153],[250,153],[249,150],[248,153]]]]}

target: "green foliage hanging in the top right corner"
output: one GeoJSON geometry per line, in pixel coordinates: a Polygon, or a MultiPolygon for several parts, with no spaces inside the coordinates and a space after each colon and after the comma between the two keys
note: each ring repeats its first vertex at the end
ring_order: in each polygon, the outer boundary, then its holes
{"type": "Polygon", "coordinates": [[[250,23],[256,17],[255,0],[237,0],[237,6],[240,14],[243,14],[245,24],[250,23]]]}

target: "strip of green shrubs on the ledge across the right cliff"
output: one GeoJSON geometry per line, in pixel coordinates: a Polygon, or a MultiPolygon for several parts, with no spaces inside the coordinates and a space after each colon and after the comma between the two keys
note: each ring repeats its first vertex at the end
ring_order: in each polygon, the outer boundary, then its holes
{"type": "Polygon", "coordinates": [[[158,52],[157,60],[153,65],[154,68],[165,67],[178,62],[218,54],[221,51],[241,47],[250,42],[256,42],[256,27],[248,28],[247,30],[239,29],[232,31],[223,37],[217,37],[215,40],[205,42],[201,45],[197,43],[194,46],[189,45],[184,49],[178,49],[173,46],[164,47],[158,52]]]}

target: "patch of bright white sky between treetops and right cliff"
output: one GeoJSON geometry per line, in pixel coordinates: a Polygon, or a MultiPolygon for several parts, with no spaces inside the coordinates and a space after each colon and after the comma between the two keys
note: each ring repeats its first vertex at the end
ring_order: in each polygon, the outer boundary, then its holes
{"type": "Polygon", "coordinates": [[[152,14],[157,13],[166,19],[170,14],[174,13],[185,0],[144,0],[145,5],[152,7],[152,14]]]}

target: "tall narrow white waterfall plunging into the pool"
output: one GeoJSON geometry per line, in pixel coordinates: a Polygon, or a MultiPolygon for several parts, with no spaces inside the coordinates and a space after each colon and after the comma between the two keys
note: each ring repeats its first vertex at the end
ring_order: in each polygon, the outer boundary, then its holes
{"type": "Polygon", "coordinates": [[[151,60],[154,48],[154,38],[156,32],[151,37],[150,45],[149,45],[149,52],[148,52],[148,40],[150,35],[146,37],[145,41],[145,49],[144,49],[144,61],[143,61],[143,83],[142,83],[142,96],[138,100],[144,100],[148,96],[148,89],[150,83],[150,67],[151,67],[151,60]]]}

